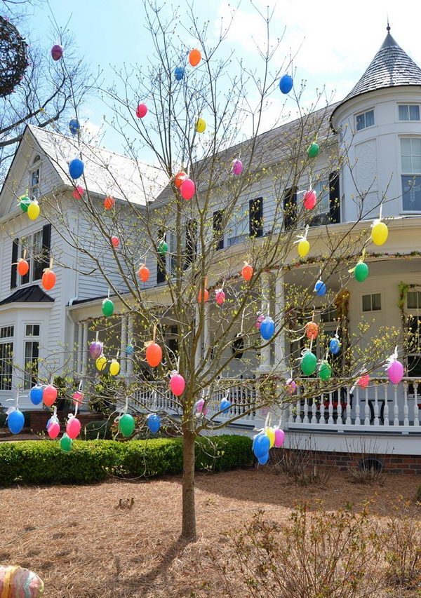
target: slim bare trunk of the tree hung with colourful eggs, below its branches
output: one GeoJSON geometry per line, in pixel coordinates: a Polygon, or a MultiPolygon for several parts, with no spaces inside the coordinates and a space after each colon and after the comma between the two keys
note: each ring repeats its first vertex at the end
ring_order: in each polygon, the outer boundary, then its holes
{"type": "Polygon", "coordinates": [[[194,440],[190,430],[183,430],[182,451],[182,530],[181,536],[196,540],[196,509],[194,505],[194,440]]]}

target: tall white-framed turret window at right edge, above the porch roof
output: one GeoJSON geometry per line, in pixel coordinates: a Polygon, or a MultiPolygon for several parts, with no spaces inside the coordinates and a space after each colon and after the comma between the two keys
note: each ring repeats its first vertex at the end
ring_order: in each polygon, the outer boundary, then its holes
{"type": "Polygon", "coordinates": [[[421,137],[401,138],[402,207],[421,211],[421,137]]]}

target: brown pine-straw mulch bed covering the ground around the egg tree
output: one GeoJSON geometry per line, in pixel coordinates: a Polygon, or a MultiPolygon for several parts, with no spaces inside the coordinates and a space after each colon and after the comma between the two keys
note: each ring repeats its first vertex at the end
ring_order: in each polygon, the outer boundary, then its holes
{"type": "MultiPolygon", "coordinates": [[[[0,489],[0,563],[20,564],[44,579],[46,598],[190,597],[212,575],[201,568],[220,532],[264,509],[278,522],[300,501],[328,510],[375,498],[386,514],[396,496],[413,500],[420,476],[389,475],[385,486],[353,484],[333,473],[324,487],[297,487],[269,470],[237,470],[196,478],[199,540],[180,532],[181,478],[110,481],[92,486],[0,489]],[[119,508],[119,501],[133,508],[119,508]]],[[[414,508],[415,516],[421,512],[414,508]]],[[[218,598],[218,594],[214,594],[218,598]]]]}

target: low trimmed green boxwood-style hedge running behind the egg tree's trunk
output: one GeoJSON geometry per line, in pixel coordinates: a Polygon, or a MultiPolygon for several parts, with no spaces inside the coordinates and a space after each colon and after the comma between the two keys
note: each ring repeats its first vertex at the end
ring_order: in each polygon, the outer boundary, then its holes
{"type": "MultiPolygon", "coordinates": [[[[253,462],[247,436],[196,439],[196,470],[229,470],[253,462]]],[[[108,475],[150,477],[182,472],[182,438],[75,441],[65,453],[54,440],[0,444],[0,485],[96,482],[108,475]]]]}

